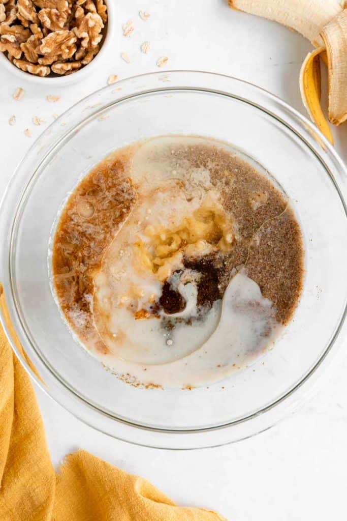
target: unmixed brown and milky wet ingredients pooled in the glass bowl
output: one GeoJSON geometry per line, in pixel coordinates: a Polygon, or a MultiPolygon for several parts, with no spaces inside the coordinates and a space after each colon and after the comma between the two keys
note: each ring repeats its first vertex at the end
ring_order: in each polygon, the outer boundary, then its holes
{"type": "Polygon", "coordinates": [[[273,344],[300,297],[303,246],[266,172],[225,143],[171,135],[112,153],[79,183],[52,271],[88,351],[138,386],[186,388],[273,344]]]}

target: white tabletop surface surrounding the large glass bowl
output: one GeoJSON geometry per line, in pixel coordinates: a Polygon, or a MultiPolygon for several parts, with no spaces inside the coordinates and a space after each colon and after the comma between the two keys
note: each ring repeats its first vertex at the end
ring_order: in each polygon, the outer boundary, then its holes
{"type": "MultiPolygon", "coordinates": [[[[158,70],[156,60],[168,56],[167,69],[220,72],[256,83],[304,113],[299,70],[311,45],[275,23],[236,13],[226,0],[119,0],[118,37],[113,55],[82,84],[48,90],[0,69],[0,190],[33,139],[64,110],[119,78],[158,70]],[[144,22],[138,10],[148,10],[144,22]],[[122,36],[121,24],[133,19],[135,33],[122,36]],[[139,45],[148,40],[144,55],[139,45]],[[126,64],[120,53],[127,52],[126,64]],[[12,98],[21,86],[25,95],[12,98]],[[46,95],[61,96],[57,103],[46,95]],[[16,115],[14,127],[9,117],[16,115]],[[46,119],[41,127],[31,118],[46,119]],[[33,138],[24,135],[32,130],[33,138]]],[[[116,14],[117,17],[117,14],[116,14]]],[[[334,129],[336,148],[347,159],[347,123],[334,129]],[[343,147],[344,143],[344,147],[343,147]]],[[[347,479],[347,360],[333,379],[302,410],[273,429],[246,441],[217,449],[159,451],[113,440],[83,425],[36,389],[50,453],[55,464],[79,447],[140,474],[181,504],[215,508],[230,520],[342,521],[347,479]]],[[[150,520],[149,520],[150,521],[150,520]]]]}

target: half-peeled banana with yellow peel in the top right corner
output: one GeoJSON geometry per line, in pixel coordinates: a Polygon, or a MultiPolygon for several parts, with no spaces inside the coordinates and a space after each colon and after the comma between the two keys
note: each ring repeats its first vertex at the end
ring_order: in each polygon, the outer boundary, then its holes
{"type": "Polygon", "coordinates": [[[329,121],[347,119],[347,0],[228,0],[229,7],[274,20],[301,33],[316,49],[300,73],[303,103],[325,137],[332,132],[320,106],[320,59],[328,67],[329,121]]]}

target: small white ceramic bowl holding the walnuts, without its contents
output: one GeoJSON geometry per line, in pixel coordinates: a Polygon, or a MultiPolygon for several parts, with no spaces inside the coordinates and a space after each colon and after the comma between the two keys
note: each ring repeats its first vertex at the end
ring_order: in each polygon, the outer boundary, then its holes
{"type": "Polygon", "coordinates": [[[71,85],[72,83],[76,83],[78,81],[82,81],[83,78],[86,78],[89,75],[92,75],[93,71],[96,69],[102,59],[105,59],[107,56],[108,50],[112,48],[112,41],[115,32],[115,16],[114,16],[114,3],[112,0],[105,0],[105,4],[107,5],[107,23],[106,23],[106,33],[104,37],[104,41],[102,42],[100,51],[98,54],[92,59],[91,63],[82,67],[80,70],[73,72],[67,76],[54,76],[54,77],[46,77],[41,78],[40,76],[36,76],[34,74],[30,74],[29,72],[24,72],[21,69],[18,69],[14,64],[10,62],[10,60],[5,56],[4,53],[0,52],[0,66],[9,70],[12,74],[16,75],[22,81],[31,81],[32,83],[38,83],[46,86],[65,86],[71,85]]]}

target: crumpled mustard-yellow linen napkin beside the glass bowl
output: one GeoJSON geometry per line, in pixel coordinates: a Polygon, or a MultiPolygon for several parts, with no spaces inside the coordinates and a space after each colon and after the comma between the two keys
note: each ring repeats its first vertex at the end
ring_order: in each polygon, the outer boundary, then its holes
{"type": "MultiPolygon", "coordinates": [[[[1,284],[0,307],[11,328],[1,284]]],[[[20,346],[17,338],[16,344],[20,346]]],[[[1,325],[0,519],[226,521],[203,508],[176,506],[145,479],[84,450],[69,454],[55,473],[29,376],[12,352],[1,325]]]]}

